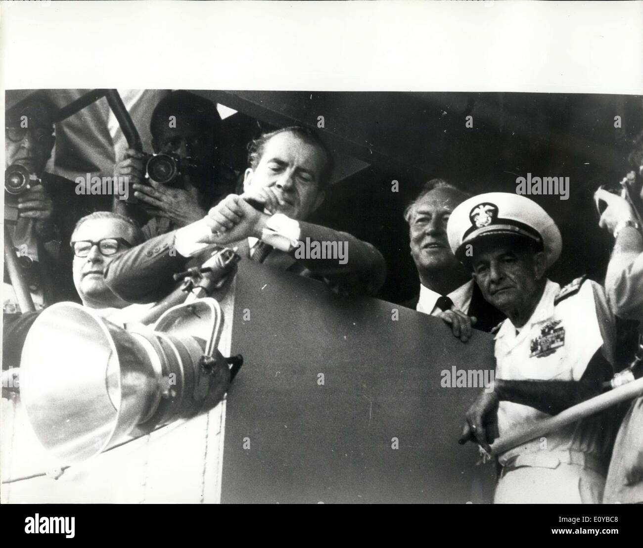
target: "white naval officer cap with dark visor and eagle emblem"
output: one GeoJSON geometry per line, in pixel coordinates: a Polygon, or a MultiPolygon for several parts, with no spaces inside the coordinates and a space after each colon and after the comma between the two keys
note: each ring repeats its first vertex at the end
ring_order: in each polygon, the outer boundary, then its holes
{"type": "Polygon", "coordinates": [[[487,192],[458,205],[447,224],[451,251],[462,262],[466,244],[491,237],[520,237],[545,251],[547,268],[561,254],[561,233],[547,212],[533,200],[511,192],[487,192]]]}

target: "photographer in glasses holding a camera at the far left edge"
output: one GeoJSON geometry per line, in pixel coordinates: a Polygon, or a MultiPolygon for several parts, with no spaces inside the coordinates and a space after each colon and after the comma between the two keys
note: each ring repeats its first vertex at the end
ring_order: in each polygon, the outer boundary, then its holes
{"type": "MultiPolygon", "coordinates": [[[[5,223],[36,309],[77,300],[68,241],[77,217],[74,183],[44,171],[55,142],[53,106],[32,95],[5,113],[5,223]]],[[[14,280],[15,281],[15,280],[14,280]]],[[[3,311],[20,311],[5,269],[3,311]]]]}

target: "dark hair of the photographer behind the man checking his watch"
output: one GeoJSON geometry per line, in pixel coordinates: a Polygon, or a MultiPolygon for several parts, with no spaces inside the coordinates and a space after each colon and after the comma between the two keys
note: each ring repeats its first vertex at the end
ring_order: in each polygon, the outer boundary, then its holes
{"type": "Polygon", "coordinates": [[[221,116],[217,111],[217,105],[212,101],[183,89],[172,91],[163,97],[152,111],[150,133],[154,139],[158,138],[161,127],[167,125],[170,116],[181,116],[187,120],[188,125],[201,127],[203,131],[212,134],[215,142],[219,143],[221,116]]]}

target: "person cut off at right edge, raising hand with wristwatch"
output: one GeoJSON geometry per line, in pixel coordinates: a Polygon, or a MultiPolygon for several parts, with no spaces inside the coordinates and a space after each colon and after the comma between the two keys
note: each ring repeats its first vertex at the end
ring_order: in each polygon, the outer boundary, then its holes
{"type": "MultiPolygon", "coordinates": [[[[643,235],[628,201],[606,190],[597,190],[597,201],[606,203],[599,225],[615,237],[605,288],[610,306],[621,318],[638,320],[638,355],[643,340],[643,235]]],[[[604,503],[643,502],[643,396],[635,399],[624,417],[605,484],[604,503]]]]}

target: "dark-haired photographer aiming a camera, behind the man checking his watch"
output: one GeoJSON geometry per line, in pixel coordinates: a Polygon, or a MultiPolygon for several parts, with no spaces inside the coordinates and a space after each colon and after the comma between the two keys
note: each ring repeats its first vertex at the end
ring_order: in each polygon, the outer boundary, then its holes
{"type": "Polygon", "coordinates": [[[209,100],[173,91],[154,108],[150,132],[154,153],[173,154],[183,165],[176,180],[161,184],[152,176],[146,178],[150,156],[133,149],[127,149],[114,167],[114,176],[129,177],[140,207],[127,206],[114,197],[113,211],[139,219],[143,212],[146,239],[202,219],[233,190],[235,182],[233,172],[219,161],[221,116],[209,100]]]}

